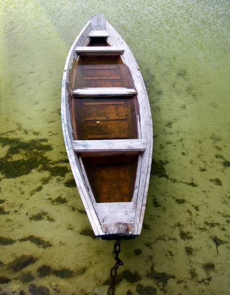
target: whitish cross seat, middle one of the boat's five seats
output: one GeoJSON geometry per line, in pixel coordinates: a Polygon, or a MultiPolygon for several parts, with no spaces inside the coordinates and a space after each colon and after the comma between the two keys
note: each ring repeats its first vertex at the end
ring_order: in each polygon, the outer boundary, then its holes
{"type": "MultiPolygon", "coordinates": [[[[102,79],[105,79],[105,78],[102,78],[102,79]]],[[[80,89],[72,90],[73,96],[123,96],[123,95],[136,95],[136,94],[137,94],[136,89],[125,88],[125,87],[97,87],[97,88],[80,88],[80,89]]]]}

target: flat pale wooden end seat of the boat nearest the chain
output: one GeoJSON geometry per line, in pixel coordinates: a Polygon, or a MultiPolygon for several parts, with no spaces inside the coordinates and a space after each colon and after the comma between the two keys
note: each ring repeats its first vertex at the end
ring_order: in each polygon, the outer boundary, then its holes
{"type": "Polygon", "coordinates": [[[112,224],[116,222],[132,224],[136,212],[136,203],[95,203],[93,204],[97,217],[101,224],[112,224]]]}

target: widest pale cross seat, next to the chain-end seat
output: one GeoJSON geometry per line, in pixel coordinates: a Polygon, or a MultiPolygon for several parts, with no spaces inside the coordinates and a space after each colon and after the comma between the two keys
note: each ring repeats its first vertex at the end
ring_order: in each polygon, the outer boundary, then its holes
{"type": "Polygon", "coordinates": [[[146,140],[144,139],[121,139],[121,140],[74,140],[74,151],[144,151],[146,140]]]}

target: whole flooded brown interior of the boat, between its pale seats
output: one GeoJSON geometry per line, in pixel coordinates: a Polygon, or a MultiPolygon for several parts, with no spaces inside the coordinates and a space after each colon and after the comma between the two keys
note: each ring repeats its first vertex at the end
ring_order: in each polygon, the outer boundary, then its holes
{"type": "MultiPolygon", "coordinates": [[[[87,46],[110,45],[106,37],[92,37],[87,46]]],[[[119,53],[80,55],[71,78],[72,89],[134,88],[129,68],[119,53]]],[[[136,94],[94,96],[89,93],[72,95],[71,99],[74,140],[88,143],[141,138],[136,94]]],[[[78,152],[93,202],[134,201],[140,153],[137,150],[78,152]]]]}

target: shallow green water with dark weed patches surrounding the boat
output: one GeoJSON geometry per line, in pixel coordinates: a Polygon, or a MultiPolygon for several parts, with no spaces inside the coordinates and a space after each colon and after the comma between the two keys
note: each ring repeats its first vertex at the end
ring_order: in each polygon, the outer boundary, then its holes
{"type": "Polygon", "coordinates": [[[35,284],[44,286],[36,294],[106,294],[113,242],[88,230],[60,122],[65,59],[96,13],[137,59],[154,128],[144,228],[121,244],[115,294],[227,295],[226,0],[0,0],[0,289],[27,295],[35,284]],[[28,266],[15,263],[21,255],[28,266]]]}

